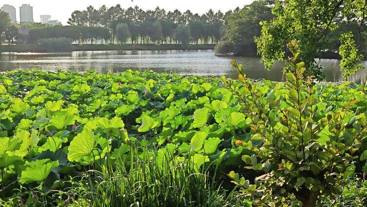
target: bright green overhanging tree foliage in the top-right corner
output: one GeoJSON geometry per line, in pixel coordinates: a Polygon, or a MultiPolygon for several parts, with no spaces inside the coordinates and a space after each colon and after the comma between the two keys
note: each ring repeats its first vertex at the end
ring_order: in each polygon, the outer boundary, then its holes
{"type": "Polygon", "coordinates": [[[344,76],[353,74],[356,68],[362,68],[357,64],[361,60],[357,51],[366,35],[366,4],[364,0],[277,1],[272,9],[275,18],[260,23],[261,36],[256,38],[265,67],[270,69],[274,60],[284,60],[285,44],[297,40],[306,74],[322,80],[322,67],[316,58],[332,52],[330,48],[336,49],[330,47],[330,42],[338,41],[344,76]]]}

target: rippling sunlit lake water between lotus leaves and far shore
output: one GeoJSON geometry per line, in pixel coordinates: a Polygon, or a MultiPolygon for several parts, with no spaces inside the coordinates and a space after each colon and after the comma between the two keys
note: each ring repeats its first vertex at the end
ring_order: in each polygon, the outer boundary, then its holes
{"type": "MultiPolygon", "coordinates": [[[[85,71],[95,69],[100,72],[121,72],[134,70],[154,70],[182,75],[226,76],[236,78],[237,71],[230,65],[236,59],[243,63],[247,77],[283,81],[282,62],[276,62],[270,71],[264,69],[260,58],[217,57],[212,50],[197,51],[74,51],[71,53],[2,53],[0,71],[18,68],[42,70],[71,69],[85,71]]],[[[325,68],[326,82],[344,81],[338,60],[320,61],[325,68]]],[[[362,62],[367,68],[367,62],[362,62]]],[[[358,71],[350,81],[366,83],[367,70],[358,71]]]]}

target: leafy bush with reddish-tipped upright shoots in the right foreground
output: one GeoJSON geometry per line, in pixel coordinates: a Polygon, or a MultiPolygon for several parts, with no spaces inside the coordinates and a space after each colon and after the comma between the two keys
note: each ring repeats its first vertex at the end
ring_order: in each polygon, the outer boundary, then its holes
{"type": "Polygon", "coordinates": [[[344,105],[320,101],[312,77],[304,81],[305,63],[297,62],[296,47],[296,41],[288,44],[293,57],[287,62],[292,70],[286,74],[286,93],[264,93],[246,79],[242,65],[236,62],[232,64],[243,87],[237,88],[223,78],[242,101],[248,119],[250,139],[238,145],[250,153],[242,159],[246,168],[264,173],[253,185],[233,171],[228,175],[243,187],[245,195],[256,197],[257,204],[274,202],[280,206],[293,194],[304,207],[314,207],[319,196],[341,194],[354,174],[360,138],[367,135],[367,112],[351,111],[359,100],[344,105]]]}

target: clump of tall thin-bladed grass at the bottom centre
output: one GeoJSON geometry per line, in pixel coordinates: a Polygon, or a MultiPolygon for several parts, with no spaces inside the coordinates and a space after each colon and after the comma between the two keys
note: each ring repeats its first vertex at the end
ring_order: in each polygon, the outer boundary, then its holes
{"type": "MultiPolygon", "coordinates": [[[[162,163],[157,153],[131,150],[130,165],[119,159],[116,166],[90,170],[78,182],[77,195],[70,197],[77,207],[229,207],[235,204],[234,192],[226,192],[210,177],[208,168],[198,171],[189,158],[173,156],[162,163]],[[140,158],[139,158],[140,157],[140,158]],[[83,190],[80,190],[80,189],[83,190]]],[[[215,170],[216,171],[216,170],[215,170]]],[[[69,194],[73,192],[69,191],[69,194]]],[[[74,193],[75,194],[75,193],[74,193]]]]}

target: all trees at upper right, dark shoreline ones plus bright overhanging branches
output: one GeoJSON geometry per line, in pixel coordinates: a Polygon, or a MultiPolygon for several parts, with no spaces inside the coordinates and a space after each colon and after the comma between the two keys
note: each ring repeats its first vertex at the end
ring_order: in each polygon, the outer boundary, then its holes
{"type": "Polygon", "coordinates": [[[363,68],[357,62],[366,59],[365,16],[364,1],[305,4],[302,0],[255,0],[228,16],[225,35],[216,50],[242,56],[258,54],[271,69],[274,60],[286,59],[286,43],[297,40],[308,75],[323,79],[317,62],[323,57],[342,59],[342,70],[354,74],[363,68]]]}

